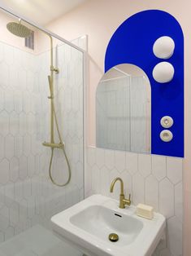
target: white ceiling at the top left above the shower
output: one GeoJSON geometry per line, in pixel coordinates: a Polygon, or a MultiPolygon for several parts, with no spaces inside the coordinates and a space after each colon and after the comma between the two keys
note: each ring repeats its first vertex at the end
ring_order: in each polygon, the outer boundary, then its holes
{"type": "Polygon", "coordinates": [[[46,25],[87,0],[0,0],[0,6],[8,7],[33,22],[46,25]]]}

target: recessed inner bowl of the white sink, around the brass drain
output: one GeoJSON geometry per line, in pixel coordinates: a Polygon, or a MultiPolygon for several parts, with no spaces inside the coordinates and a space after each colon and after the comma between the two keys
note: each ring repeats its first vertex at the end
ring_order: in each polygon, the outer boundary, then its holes
{"type": "Polygon", "coordinates": [[[143,223],[137,218],[125,214],[117,214],[102,205],[89,206],[70,218],[76,227],[108,241],[108,235],[115,232],[119,236],[116,245],[124,246],[132,243],[141,232],[143,223]]]}

